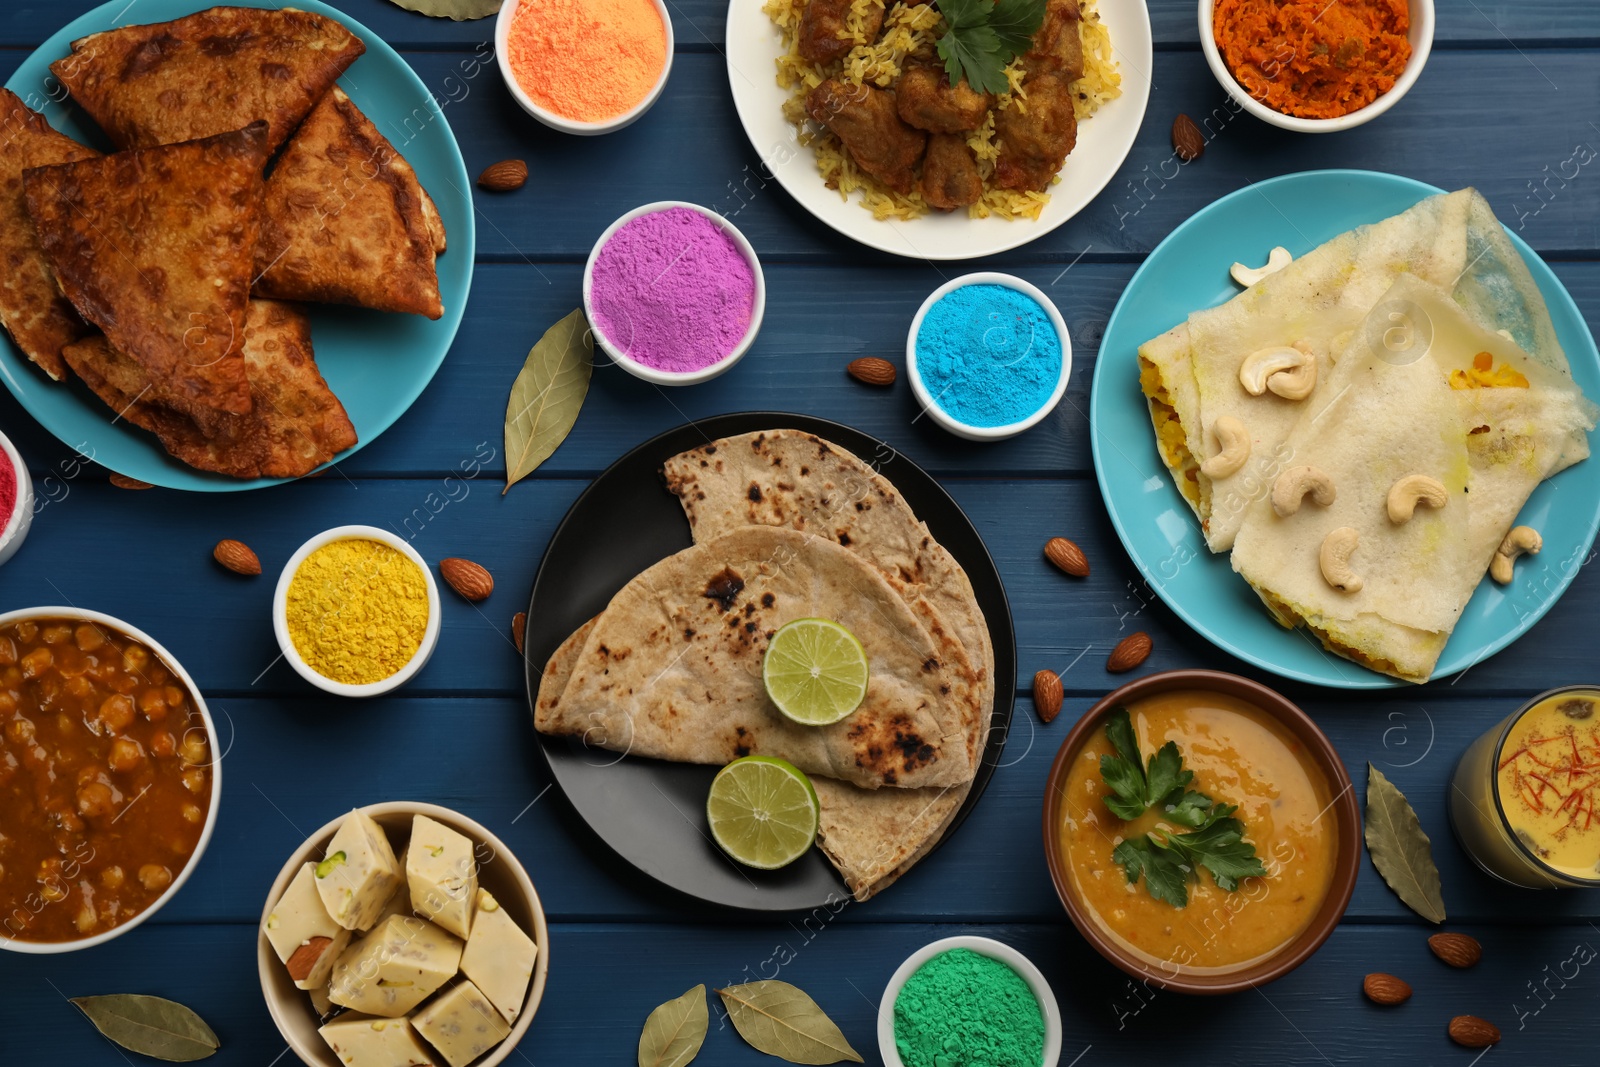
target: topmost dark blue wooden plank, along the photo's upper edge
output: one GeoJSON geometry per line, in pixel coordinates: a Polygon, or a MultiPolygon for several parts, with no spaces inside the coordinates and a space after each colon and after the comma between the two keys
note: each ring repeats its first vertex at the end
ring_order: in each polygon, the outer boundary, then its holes
{"type": "MultiPolygon", "coordinates": [[[[752,0],[754,2],[754,0],[752,0]]],[[[0,46],[37,45],[96,0],[38,3],[32,0],[0,27],[0,46]]],[[[338,0],[336,8],[374,30],[395,48],[472,48],[493,38],[493,19],[451,22],[403,11],[389,0],[338,0]]],[[[1158,46],[1194,48],[1198,21],[1194,0],[1149,0],[1150,29],[1158,46]]],[[[1438,0],[1437,46],[1538,46],[1600,38],[1600,13],[1571,0],[1438,0]]],[[[720,48],[728,0],[674,0],[672,30],[680,51],[720,48]]],[[[138,8],[128,19],[138,21],[138,8]]]]}

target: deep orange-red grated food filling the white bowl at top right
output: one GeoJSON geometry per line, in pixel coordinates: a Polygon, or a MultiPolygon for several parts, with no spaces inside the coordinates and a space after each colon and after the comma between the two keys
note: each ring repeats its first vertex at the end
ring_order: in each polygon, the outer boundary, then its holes
{"type": "Polygon", "coordinates": [[[1336,118],[1394,88],[1411,59],[1406,0],[1218,0],[1216,46],[1274,110],[1336,118]]]}

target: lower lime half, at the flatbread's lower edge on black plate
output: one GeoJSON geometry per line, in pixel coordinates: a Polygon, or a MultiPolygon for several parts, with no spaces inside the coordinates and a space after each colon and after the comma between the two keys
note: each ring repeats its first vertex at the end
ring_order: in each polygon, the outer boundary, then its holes
{"type": "Polygon", "coordinates": [[[816,790],[789,760],[747,755],[717,771],[706,817],[725,853],[746,867],[776,870],[816,841],[816,790]]]}

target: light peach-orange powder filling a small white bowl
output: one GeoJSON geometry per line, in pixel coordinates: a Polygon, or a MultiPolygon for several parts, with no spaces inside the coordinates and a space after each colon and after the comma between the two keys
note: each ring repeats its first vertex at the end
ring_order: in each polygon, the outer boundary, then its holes
{"type": "Polygon", "coordinates": [[[651,0],[523,0],[506,46],[522,91],[576,122],[630,110],[667,64],[667,29],[651,0]]]}

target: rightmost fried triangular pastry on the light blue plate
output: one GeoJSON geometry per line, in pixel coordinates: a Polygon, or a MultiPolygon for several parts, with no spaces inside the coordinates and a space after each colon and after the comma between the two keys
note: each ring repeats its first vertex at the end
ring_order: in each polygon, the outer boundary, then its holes
{"type": "Polygon", "coordinates": [[[416,171],[333,86],[267,179],[256,293],[438,318],[443,250],[416,171]]]}

